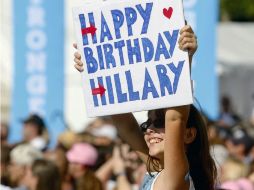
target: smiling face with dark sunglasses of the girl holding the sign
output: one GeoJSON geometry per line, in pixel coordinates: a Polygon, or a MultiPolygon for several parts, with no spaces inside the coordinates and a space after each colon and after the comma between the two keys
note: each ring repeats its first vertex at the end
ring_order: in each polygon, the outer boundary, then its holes
{"type": "Polygon", "coordinates": [[[144,133],[146,144],[149,148],[149,155],[160,160],[163,159],[165,122],[158,118],[154,111],[149,113],[147,121],[147,130],[144,133]]]}

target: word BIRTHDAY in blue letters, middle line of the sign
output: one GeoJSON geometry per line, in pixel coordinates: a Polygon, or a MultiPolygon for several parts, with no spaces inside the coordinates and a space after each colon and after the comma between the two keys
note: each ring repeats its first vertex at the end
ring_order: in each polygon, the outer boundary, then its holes
{"type": "Polygon", "coordinates": [[[178,33],[179,30],[173,31],[173,35],[168,31],[164,32],[170,48],[167,47],[161,34],[158,35],[156,47],[148,38],[121,40],[113,45],[109,43],[98,45],[96,46],[96,52],[90,47],[85,47],[84,55],[88,74],[95,73],[98,69],[104,70],[123,66],[126,63],[157,62],[162,57],[170,59],[175,49],[178,33]],[[127,60],[124,59],[124,54],[127,54],[127,60]],[[120,62],[117,62],[116,58],[120,62]]]}

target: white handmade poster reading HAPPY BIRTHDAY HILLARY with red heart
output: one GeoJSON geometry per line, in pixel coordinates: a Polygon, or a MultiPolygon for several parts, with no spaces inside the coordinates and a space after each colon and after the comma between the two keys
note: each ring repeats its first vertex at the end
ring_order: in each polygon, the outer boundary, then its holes
{"type": "Polygon", "coordinates": [[[178,48],[182,1],[90,3],[73,19],[89,117],[193,102],[188,53],[178,48]]]}

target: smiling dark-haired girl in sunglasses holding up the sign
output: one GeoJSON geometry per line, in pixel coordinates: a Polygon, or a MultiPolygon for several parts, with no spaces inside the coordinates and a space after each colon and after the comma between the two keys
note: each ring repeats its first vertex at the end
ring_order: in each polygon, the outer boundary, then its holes
{"type": "MultiPolygon", "coordinates": [[[[188,50],[190,62],[197,40],[190,26],[180,32],[179,48],[188,50]]],[[[83,71],[76,52],[75,67],[83,71]]],[[[209,153],[206,125],[193,105],[148,111],[140,127],[131,113],[113,115],[119,135],[146,163],[142,190],[213,190],[216,168],[209,153]]]]}

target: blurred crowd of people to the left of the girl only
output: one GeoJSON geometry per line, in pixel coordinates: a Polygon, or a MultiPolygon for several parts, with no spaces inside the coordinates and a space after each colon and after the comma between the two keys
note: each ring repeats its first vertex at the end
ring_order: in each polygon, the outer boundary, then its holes
{"type": "Polygon", "coordinates": [[[22,142],[9,144],[8,130],[1,124],[3,190],[138,189],[146,171],[107,117],[82,133],[63,132],[54,150],[47,147],[50,135],[38,115],[23,121],[22,142]]]}

